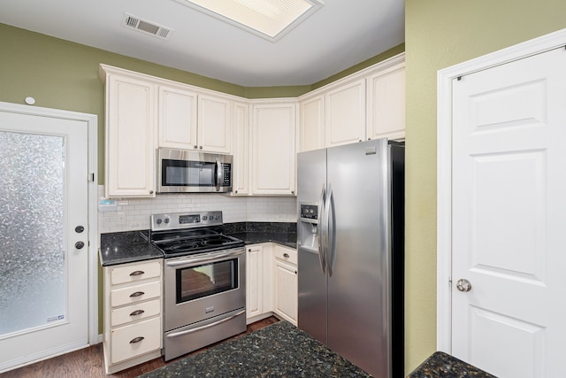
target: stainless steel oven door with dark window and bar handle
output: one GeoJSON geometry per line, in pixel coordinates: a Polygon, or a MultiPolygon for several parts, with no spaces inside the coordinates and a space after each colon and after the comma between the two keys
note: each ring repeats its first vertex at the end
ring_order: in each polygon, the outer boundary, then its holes
{"type": "Polygon", "coordinates": [[[165,259],[164,330],[246,307],[245,248],[165,259]]]}

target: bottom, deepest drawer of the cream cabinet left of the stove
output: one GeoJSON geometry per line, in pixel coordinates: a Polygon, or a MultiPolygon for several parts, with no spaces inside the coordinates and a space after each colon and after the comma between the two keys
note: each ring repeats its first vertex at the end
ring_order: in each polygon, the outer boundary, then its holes
{"type": "Polygon", "coordinates": [[[111,330],[111,363],[132,359],[161,348],[161,318],[111,330]]]}

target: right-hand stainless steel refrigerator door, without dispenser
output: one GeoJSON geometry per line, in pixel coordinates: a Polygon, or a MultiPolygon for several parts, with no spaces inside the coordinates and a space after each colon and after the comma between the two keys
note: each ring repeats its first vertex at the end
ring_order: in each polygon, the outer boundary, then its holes
{"type": "Polygon", "coordinates": [[[328,346],[379,378],[389,376],[390,365],[387,150],[386,140],[375,140],[327,151],[335,243],[329,258],[328,346]]]}

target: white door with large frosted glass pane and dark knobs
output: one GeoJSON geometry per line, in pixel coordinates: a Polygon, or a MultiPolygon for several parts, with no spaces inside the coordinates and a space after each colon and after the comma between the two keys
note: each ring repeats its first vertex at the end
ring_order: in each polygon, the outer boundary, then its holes
{"type": "Polygon", "coordinates": [[[0,372],[88,345],[88,122],[0,110],[0,372]]]}

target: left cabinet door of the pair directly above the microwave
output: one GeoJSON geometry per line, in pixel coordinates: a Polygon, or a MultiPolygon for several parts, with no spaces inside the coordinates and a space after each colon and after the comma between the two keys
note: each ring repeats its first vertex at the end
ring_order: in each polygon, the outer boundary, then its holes
{"type": "Polygon", "coordinates": [[[196,93],[175,87],[159,87],[159,147],[197,148],[196,93]]]}

